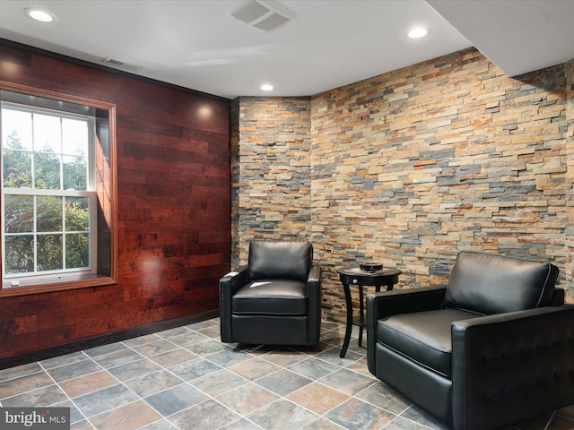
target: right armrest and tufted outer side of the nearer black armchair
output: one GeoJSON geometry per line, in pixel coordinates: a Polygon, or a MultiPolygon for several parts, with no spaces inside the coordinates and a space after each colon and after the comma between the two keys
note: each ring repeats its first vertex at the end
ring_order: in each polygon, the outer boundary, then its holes
{"type": "Polygon", "coordinates": [[[574,305],[455,322],[455,428],[482,429],[574,403],[574,305]]]}

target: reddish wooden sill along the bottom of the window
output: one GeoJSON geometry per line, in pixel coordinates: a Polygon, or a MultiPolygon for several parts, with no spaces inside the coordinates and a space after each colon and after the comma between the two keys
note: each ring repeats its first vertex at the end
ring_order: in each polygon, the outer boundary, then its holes
{"type": "Polygon", "coordinates": [[[0,289],[1,297],[27,296],[30,294],[50,293],[54,291],[64,291],[68,289],[93,288],[103,285],[115,284],[117,280],[109,276],[98,274],[83,274],[66,277],[65,280],[43,281],[41,283],[21,283],[13,287],[9,281],[4,281],[0,289]]]}

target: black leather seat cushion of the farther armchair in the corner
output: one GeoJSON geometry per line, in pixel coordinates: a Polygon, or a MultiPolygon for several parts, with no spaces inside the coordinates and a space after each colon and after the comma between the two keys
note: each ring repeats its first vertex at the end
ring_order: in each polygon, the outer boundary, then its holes
{"type": "Polygon", "coordinates": [[[306,315],[307,284],[299,280],[257,280],[239,288],[233,314],[306,315]]]}

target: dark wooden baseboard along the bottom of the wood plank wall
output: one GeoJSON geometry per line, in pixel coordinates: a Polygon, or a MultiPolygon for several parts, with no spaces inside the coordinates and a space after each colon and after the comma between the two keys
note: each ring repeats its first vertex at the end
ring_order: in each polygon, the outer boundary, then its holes
{"type": "Polygon", "coordinates": [[[126,331],[117,331],[115,333],[95,336],[89,339],[77,340],[75,342],[66,343],[65,345],[58,345],[57,347],[39,349],[37,351],[26,352],[24,354],[19,354],[12,357],[4,357],[0,358],[0,370],[13,366],[22,366],[36,361],[46,360],[52,357],[64,356],[65,354],[82,351],[83,349],[100,347],[102,345],[107,345],[114,342],[121,342],[122,340],[136,338],[145,334],[173,329],[181,325],[198,323],[200,321],[217,318],[218,316],[219,309],[214,309],[213,311],[204,312],[202,314],[183,316],[181,318],[175,318],[172,320],[144,324],[126,331]]]}

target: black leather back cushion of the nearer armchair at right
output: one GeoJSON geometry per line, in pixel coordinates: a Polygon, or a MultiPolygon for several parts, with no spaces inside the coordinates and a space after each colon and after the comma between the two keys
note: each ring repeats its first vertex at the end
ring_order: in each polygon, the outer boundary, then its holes
{"type": "Polygon", "coordinates": [[[552,305],[558,272],[550,262],[461,252],[448,280],[444,306],[502,314],[552,305]]]}

